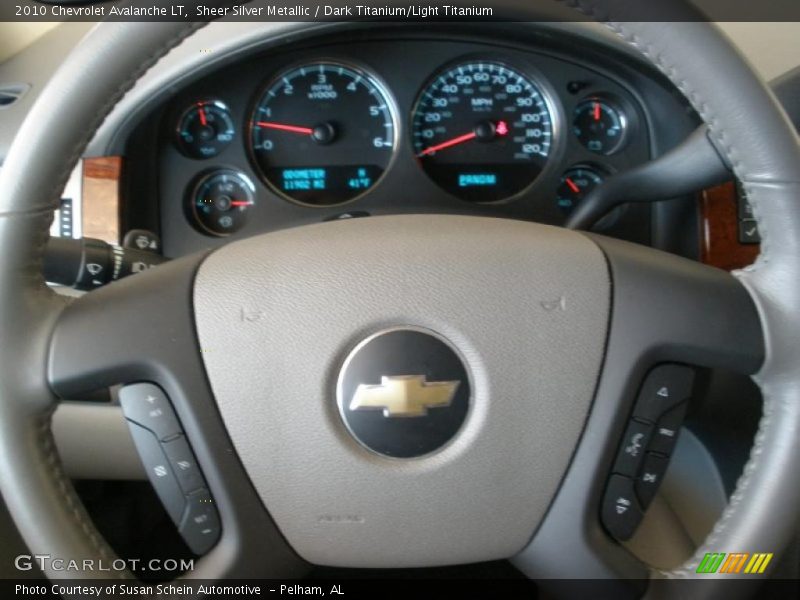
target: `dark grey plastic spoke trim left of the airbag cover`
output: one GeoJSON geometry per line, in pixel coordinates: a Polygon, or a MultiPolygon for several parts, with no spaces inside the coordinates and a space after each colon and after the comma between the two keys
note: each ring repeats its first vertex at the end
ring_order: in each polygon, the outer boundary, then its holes
{"type": "Polygon", "coordinates": [[[195,333],[193,255],[116,282],[68,306],[55,327],[48,378],[61,398],[152,382],[172,400],[222,520],[220,542],[187,577],[285,578],[308,565],[253,489],[217,410],[195,333]]]}

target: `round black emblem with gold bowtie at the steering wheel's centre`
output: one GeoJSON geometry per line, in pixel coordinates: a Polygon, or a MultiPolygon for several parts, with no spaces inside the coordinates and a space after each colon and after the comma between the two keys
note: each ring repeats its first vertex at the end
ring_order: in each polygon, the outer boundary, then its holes
{"type": "Polygon", "coordinates": [[[471,386],[455,348],[432,331],[377,333],[350,353],[339,374],[339,412],[365,448],[417,458],[448,444],[469,412],[471,386]]]}

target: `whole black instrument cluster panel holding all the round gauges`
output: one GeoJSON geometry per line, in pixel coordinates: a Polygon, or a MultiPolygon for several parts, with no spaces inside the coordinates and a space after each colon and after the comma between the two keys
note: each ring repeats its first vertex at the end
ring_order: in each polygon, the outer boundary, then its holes
{"type": "Polygon", "coordinates": [[[165,115],[162,198],[180,185],[185,222],[210,238],[403,210],[558,224],[650,158],[645,113],[613,76],[469,43],[256,60],[188,86],[165,115]]]}

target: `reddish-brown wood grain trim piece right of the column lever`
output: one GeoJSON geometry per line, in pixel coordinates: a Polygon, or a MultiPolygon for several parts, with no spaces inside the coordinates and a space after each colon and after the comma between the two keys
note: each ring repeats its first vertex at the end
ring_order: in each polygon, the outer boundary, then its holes
{"type": "Polygon", "coordinates": [[[700,255],[704,263],[733,271],[755,261],[760,246],[739,243],[739,212],[734,183],[702,192],[700,214],[700,255]]]}

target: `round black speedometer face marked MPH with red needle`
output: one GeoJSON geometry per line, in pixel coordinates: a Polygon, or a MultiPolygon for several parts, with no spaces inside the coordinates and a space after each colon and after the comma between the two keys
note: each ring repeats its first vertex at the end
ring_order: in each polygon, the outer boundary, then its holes
{"type": "Polygon", "coordinates": [[[437,74],[412,115],[414,151],[433,181],[472,202],[514,196],[539,176],[553,144],[553,113],[528,77],[494,62],[437,74]]]}

